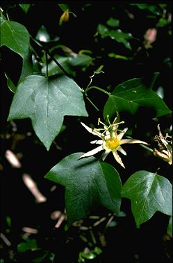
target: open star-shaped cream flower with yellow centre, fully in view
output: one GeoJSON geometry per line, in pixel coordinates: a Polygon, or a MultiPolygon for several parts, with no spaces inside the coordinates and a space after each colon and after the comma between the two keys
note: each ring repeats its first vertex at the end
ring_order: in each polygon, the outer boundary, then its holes
{"type": "Polygon", "coordinates": [[[126,133],[128,128],[124,128],[123,130],[118,130],[119,124],[124,123],[124,121],[118,122],[120,120],[118,113],[117,113],[117,117],[115,117],[112,124],[110,123],[108,116],[107,116],[107,120],[108,120],[108,126],[105,123],[101,122],[99,119],[98,125],[99,123],[101,123],[104,126],[104,128],[94,128],[94,129],[86,126],[85,123],[81,122],[81,125],[86,130],[88,130],[89,133],[92,133],[93,135],[98,136],[101,140],[94,140],[90,142],[91,144],[99,144],[99,146],[93,149],[92,151],[88,151],[88,153],[83,154],[80,158],[93,156],[99,151],[104,150],[104,153],[101,157],[102,160],[105,160],[106,156],[108,156],[108,154],[112,152],[117,163],[119,163],[120,165],[122,165],[122,167],[124,167],[124,164],[122,163],[122,159],[117,153],[117,151],[120,151],[120,153],[126,156],[126,151],[122,149],[121,145],[122,144],[147,144],[147,142],[143,142],[140,140],[134,140],[134,139],[122,139],[122,137],[124,136],[124,133],[126,133]]]}

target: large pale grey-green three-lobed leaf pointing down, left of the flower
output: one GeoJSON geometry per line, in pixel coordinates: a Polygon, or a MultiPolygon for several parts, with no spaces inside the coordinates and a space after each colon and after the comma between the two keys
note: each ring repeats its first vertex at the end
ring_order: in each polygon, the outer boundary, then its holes
{"type": "Polygon", "coordinates": [[[88,116],[76,82],[65,75],[54,79],[31,75],[17,87],[8,121],[30,118],[36,135],[49,150],[65,115],[88,116]]]}

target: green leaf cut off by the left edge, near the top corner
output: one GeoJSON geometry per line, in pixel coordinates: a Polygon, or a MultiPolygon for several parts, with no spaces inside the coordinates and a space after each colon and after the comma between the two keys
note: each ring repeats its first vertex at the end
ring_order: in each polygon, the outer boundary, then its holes
{"type": "Polygon", "coordinates": [[[24,57],[29,46],[29,33],[22,24],[13,21],[1,21],[1,46],[6,45],[21,57],[24,57]]]}

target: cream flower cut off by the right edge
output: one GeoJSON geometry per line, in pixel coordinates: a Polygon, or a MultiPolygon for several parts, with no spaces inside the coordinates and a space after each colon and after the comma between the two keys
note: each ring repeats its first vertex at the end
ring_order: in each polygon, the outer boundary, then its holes
{"type": "Polygon", "coordinates": [[[166,136],[163,137],[160,131],[160,125],[158,124],[158,135],[154,137],[154,140],[158,142],[158,147],[160,150],[158,151],[156,148],[154,148],[154,155],[165,160],[165,162],[169,163],[169,165],[172,165],[172,136],[166,134],[166,136]],[[170,140],[167,138],[170,138],[170,140]]]}

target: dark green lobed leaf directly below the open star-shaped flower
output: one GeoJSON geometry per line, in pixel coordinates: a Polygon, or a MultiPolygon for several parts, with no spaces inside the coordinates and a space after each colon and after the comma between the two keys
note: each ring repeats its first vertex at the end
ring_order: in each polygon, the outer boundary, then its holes
{"type": "Polygon", "coordinates": [[[88,216],[95,206],[119,213],[121,180],[114,167],[96,158],[79,159],[74,153],[55,165],[44,177],[65,186],[65,206],[68,226],[88,216]]]}

